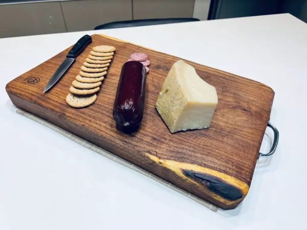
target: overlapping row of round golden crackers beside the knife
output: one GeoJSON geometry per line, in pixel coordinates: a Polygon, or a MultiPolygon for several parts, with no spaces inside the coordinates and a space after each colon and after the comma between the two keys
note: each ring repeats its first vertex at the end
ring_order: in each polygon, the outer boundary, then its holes
{"type": "Polygon", "coordinates": [[[99,45],[93,48],[70,87],[71,93],[66,97],[67,104],[74,108],[82,108],[96,101],[114,51],[115,47],[109,45],[99,45]]]}

